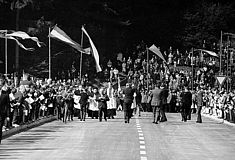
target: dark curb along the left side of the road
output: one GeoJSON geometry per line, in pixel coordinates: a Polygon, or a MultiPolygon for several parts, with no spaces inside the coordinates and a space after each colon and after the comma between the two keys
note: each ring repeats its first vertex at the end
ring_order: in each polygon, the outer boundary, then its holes
{"type": "Polygon", "coordinates": [[[57,116],[44,117],[44,118],[36,120],[36,121],[34,121],[32,123],[20,125],[18,127],[15,127],[15,128],[12,128],[12,129],[10,129],[8,131],[3,132],[2,133],[2,139],[8,138],[8,137],[10,137],[12,135],[18,134],[18,133],[23,132],[23,131],[27,131],[27,130],[29,130],[31,128],[41,126],[41,125],[43,125],[45,123],[52,122],[52,121],[54,121],[56,119],[57,119],[57,116]]]}

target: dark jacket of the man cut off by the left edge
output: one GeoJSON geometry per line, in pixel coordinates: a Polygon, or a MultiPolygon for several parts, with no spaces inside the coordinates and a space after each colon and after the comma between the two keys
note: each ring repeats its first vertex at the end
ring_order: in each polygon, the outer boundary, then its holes
{"type": "Polygon", "coordinates": [[[9,117],[10,114],[10,99],[6,93],[0,95],[0,116],[9,117]]]}

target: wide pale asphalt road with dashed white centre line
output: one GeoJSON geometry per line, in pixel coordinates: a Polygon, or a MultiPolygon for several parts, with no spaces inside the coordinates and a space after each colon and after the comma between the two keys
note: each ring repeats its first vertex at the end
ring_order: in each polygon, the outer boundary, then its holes
{"type": "MultiPolygon", "coordinates": [[[[182,122],[179,114],[153,124],[151,113],[124,123],[123,113],[98,122],[54,121],[11,136],[0,159],[20,160],[233,160],[235,127],[203,119],[182,122]]],[[[221,121],[222,122],[222,121],[221,121]]]]}

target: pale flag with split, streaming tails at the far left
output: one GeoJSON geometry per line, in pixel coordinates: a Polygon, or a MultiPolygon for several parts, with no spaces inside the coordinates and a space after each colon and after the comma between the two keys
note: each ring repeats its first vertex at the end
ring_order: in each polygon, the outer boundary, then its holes
{"type": "Polygon", "coordinates": [[[19,40],[31,39],[37,43],[39,47],[41,47],[42,42],[38,40],[37,37],[30,37],[27,33],[22,31],[9,31],[9,30],[0,30],[0,38],[7,38],[16,41],[16,43],[27,51],[34,51],[34,48],[25,47],[19,40]]]}

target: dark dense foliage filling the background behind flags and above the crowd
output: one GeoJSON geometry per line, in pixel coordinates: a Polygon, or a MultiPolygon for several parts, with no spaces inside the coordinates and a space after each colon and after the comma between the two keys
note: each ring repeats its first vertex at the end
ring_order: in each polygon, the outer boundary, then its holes
{"type": "MultiPolygon", "coordinates": [[[[119,52],[132,54],[132,48],[141,41],[147,45],[155,43],[164,50],[169,46],[188,50],[201,47],[205,40],[210,48],[218,43],[221,30],[235,32],[235,2],[232,0],[0,0],[0,4],[0,29],[15,29],[18,23],[20,30],[38,36],[45,44],[48,43],[48,27],[54,24],[80,43],[80,28],[86,24],[103,66],[119,52]]],[[[88,45],[88,40],[84,39],[84,47],[88,45]]],[[[4,46],[3,40],[0,46],[4,46]]],[[[11,71],[15,63],[14,46],[14,42],[9,42],[11,71]]],[[[4,53],[4,47],[0,47],[0,51],[4,53]]],[[[69,46],[53,40],[52,54],[54,74],[67,72],[72,64],[79,70],[80,54],[69,46]]],[[[93,59],[89,56],[84,59],[84,72],[87,68],[89,72],[95,71],[93,59]]],[[[4,61],[4,54],[0,55],[0,60],[4,61]]],[[[46,73],[47,63],[47,46],[33,53],[20,50],[21,70],[46,73]]]]}

